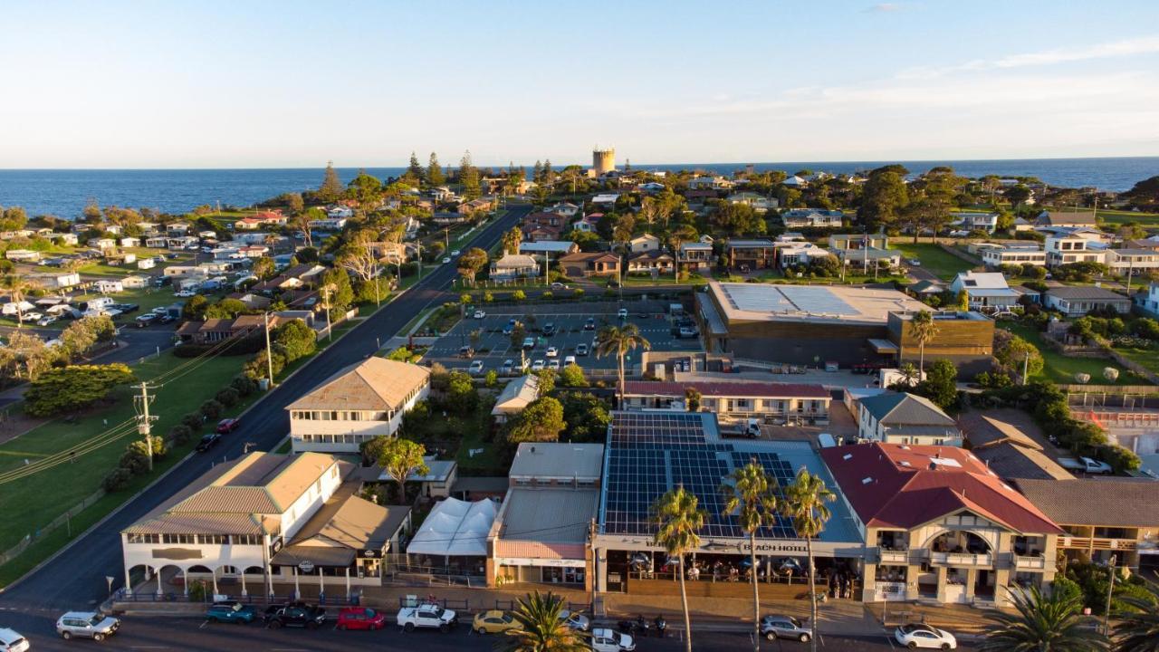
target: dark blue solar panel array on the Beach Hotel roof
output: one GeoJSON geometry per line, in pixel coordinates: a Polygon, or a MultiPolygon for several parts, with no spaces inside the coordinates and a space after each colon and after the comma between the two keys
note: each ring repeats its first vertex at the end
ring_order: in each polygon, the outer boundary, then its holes
{"type": "MultiPolygon", "coordinates": [[[[653,502],[677,485],[694,493],[707,513],[702,537],[746,536],[732,516],[722,515],[721,483],[734,469],[756,458],[778,484],[793,479],[792,465],[775,452],[741,452],[705,436],[700,414],[619,413],[612,421],[605,478],[604,531],[651,535],[653,502]]],[[[796,538],[790,522],[777,517],[763,538],[796,538]]]]}

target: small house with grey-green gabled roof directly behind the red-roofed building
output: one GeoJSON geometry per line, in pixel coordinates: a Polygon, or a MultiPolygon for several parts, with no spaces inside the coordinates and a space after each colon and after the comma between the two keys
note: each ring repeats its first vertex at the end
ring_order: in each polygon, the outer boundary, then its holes
{"type": "Polygon", "coordinates": [[[930,399],[887,392],[858,401],[858,437],[920,445],[962,445],[957,423],[930,399]]]}

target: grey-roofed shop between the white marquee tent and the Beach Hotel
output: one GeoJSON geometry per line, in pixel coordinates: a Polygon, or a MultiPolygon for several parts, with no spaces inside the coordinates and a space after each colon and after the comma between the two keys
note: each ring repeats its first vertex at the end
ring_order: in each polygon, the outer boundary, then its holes
{"type": "Polygon", "coordinates": [[[520,443],[488,535],[487,586],[503,578],[591,591],[603,470],[604,444],[520,443]]]}

